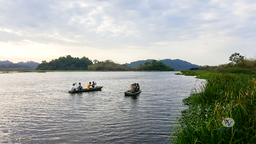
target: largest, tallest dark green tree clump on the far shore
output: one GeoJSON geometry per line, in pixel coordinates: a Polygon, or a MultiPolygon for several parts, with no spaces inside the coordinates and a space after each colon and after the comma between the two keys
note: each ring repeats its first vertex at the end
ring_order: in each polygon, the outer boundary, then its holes
{"type": "Polygon", "coordinates": [[[38,64],[36,70],[87,70],[92,64],[92,60],[86,57],[73,58],[72,56],[61,56],[50,62],[42,61],[38,64]]]}

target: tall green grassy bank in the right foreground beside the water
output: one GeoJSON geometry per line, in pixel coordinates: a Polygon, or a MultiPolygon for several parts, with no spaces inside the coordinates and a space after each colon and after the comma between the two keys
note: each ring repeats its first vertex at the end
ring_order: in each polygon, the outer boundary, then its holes
{"type": "MultiPolygon", "coordinates": [[[[204,74],[207,74],[204,73],[204,74]]],[[[254,144],[256,142],[256,76],[213,73],[184,100],[170,138],[173,144],[254,144]],[[226,128],[222,118],[233,118],[226,128]]]]}

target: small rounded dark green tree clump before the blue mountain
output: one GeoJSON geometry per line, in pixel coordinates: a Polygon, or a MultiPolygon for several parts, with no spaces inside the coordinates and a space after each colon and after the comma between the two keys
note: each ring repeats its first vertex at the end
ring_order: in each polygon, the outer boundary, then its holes
{"type": "Polygon", "coordinates": [[[145,62],[144,64],[140,64],[139,70],[160,70],[160,71],[171,71],[174,70],[170,66],[162,63],[156,62],[156,60],[152,60],[152,62],[145,62]]]}

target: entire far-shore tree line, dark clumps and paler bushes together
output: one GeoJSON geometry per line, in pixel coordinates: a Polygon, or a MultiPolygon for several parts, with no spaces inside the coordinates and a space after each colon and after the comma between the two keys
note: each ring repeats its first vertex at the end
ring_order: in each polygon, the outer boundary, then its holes
{"type": "Polygon", "coordinates": [[[174,70],[170,66],[152,60],[152,62],[145,62],[138,67],[130,68],[125,64],[119,64],[112,60],[105,60],[99,62],[98,60],[89,60],[86,57],[73,58],[72,56],[62,56],[58,59],[52,60],[50,62],[42,61],[38,64],[36,70],[160,70],[160,71],[170,71],[174,70]]]}

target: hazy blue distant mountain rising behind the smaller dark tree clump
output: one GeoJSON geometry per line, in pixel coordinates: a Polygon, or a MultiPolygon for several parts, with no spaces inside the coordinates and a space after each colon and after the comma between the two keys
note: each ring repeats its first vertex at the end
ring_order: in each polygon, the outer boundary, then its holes
{"type": "MultiPolygon", "coordinates": [[[[136,62],[131,62],[130,64],[125,63],[125,65],[129,67],[136,67],[140,66],[140,64],[144,64],[145,62],[152,62],[152,59],[148,60],[138,60],[136,62]]],[[[167,64],[171,66],[171,68],[174,69],[182,69],[182,70],[189,70],[190,68],[200,68],[202,66],[198,66],[196,64],[191,64],[190,62],[184,61],[184,60],[171,60],[171,59],[164,59],[164,60],[159,60],[158,62],[163,62],[164,64],[167,64]]]]}

